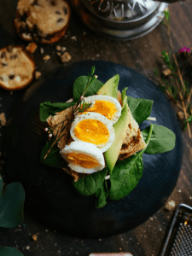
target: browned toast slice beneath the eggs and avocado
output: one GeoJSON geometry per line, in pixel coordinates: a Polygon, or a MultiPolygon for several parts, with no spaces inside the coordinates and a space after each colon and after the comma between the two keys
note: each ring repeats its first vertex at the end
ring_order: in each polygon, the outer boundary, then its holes
{"type": "MultiPolygon", "coordinates": [[[[122,106],[121,94],[120,94],[119,90],[118,90],[117,99],[122,106]]],[[[73,99],[70,99],[68,102],[70,102],[70,101],[73,101],[73,99]]],[[[59,113],[55,113],[55,116],[49,116],[49,118],[47,119],[49,127],[53,128],[54,136],[56,136],[57,131],[58,132],[61,131],[60,123],[64,119],[66,119],[66,115],[69,119],[72,117],[73,107],[67,108],[59,113]],[[60,124],[60,125],[57,125],[57,124],[60,124]],[[57,126],[55,126],[55,125],[57,125],[57,126]]],[[[139,125],[137,124],[136,120],[133,119],[131,111],[129,111],[129,115],[130,115],[129,116],[130,123],[127,127],[125,140],[122,143],[122,147],[119,152],[118,161],[125,160],[126,158],[130,157],[132,154],[136,154],[138,151],[142,150],[143,148],[146,148],[146,143],[143,140],[142,132],[140,131],[139,125]]],[[[68,123],[69,123],[69,121],[66,119],[65,125],[67,125],[68,123]]],[[[70,129],[71,129],[71,124],[67,125],[67,128],[65,129],[65,131],[61,132],[61,135],[64,133],[65,133],[65,135],[63,135],[63,137],[61,137],[61,140],[57,143],[58,148],[62,149],[66,145],[73,142],[73,138],[70,136],[70,129]]],[[[82,177],[90,175],[90,174],[74,172],[69,167],[68,167],[68,170],[67,170],[67,168],[63,168],[63,170],[73,176],[74,182],[78,181],[82,177]]]]}

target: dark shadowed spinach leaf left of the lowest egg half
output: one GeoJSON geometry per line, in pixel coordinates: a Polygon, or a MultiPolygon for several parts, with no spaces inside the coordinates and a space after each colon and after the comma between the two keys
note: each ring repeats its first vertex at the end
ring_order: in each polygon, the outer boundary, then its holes
{"type": "Polygon", "coordinates": [[[56,168],[66,168],[67,163],[66,161],[61,157],[61,154],[59,153],[60,149],[57,148],[57,143],[51,148],[50,153],[48,156],[44,159],[44,156],[47,154],[49,148],[51,147],[52,143],[54,143],[55,138],[53,140],[50,140],[44,145],[44,148],[41,151],[40,154],[40,161],[42,164],[46,166],[52,166],[56,168]]]}

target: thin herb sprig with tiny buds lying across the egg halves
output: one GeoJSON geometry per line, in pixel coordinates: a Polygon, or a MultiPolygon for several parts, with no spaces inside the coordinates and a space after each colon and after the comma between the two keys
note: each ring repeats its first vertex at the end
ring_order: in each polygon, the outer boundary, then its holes
{"type": "Polygon", "coordinates": [[[45,131],[49,132],[49,137],[52,137],[53,127],[56,127],[57,125],[61,125],[61,130],[57,131],[55,139],[53,140],[53,143],[51,144],[47,154],[45,154],[44,159],[47,158],[47,156],[50,153],[51,149],[55,146],[55,143],[58,143],[60,141],[61,137],[63,137],[65,135],[65,133],[62,134],[62,132],[65,131],[65,129],[67,128],[67,125],[70,125],[73,122],[75,116],[78,113],[84,112],[86,109],[91,107],[92,102],[84,102],[84,94],[90,88],[90,84],[92,84],[97,79],[96,75],[93,76],[95,71],[96,71],[95,66],[91,67],[91,72],[90,72],[90,74],[88,73],[88,83],[87,83],[87,85],[85,87],[85,90],[84,90],[82,96],[80,96],[80,98],[79,98],[79,102],[76,103],[75,108],[73,109],[73,113],[72,113],[71,118],[68,119],[68,117],[66,115],[66,119],[62,120],[60,123],[58,123],[56,125],[53,125],[51,128],[45,128],[45,131]],[[67,125],[64,125],[64,123],[67,120],[69,122],[67,123],[67,125]]]}

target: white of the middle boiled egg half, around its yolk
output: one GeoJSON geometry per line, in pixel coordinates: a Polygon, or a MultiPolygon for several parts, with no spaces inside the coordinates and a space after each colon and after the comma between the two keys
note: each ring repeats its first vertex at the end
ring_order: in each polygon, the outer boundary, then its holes
{"type": "Polygon", "coordinates": [[[108,129],[109,132],[109,138],[108,138],[108,142],[107,143],[102,143],[99,145],[96,145],[97,148],[101,149],[102,152],[105,152],[108,150],[108,148],[111,147],[113,141],[114,141],[114,129],[113,129],[113,124],[111,121],[109,121],[104,115],[102,115],[101,113],[95,113],[95,112],[85,112],[80,114],[79,116],[77,116],[72,123],[71,126],[71,130],[70,130],[70,134],[71,137],[73,137],[73,140],[75,141],[82,141],[80,140],[78,137],[76,137],[75,135],[75,127],[76,125],[79,124],[80,121],[84,120],[84,119],[96,119],[101,121],[108,129]]]}

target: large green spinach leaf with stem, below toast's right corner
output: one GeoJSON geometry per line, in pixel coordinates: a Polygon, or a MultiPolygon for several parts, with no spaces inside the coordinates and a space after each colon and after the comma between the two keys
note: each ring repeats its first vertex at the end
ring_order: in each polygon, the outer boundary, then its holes
{"type": "MultiPolygon", "coordinates": [[[[149,142],[153,130],[153,125],[150,125],[148,138],[149,142]]],[[[132,189],[137,186],[140,178],[143,175],[143,153],[145,148],[131,157],[119,161],[114,166],[110,176],[111,189],[109,191],[109,199],[116,201],[128,195],[132,189]]]]}

